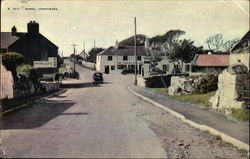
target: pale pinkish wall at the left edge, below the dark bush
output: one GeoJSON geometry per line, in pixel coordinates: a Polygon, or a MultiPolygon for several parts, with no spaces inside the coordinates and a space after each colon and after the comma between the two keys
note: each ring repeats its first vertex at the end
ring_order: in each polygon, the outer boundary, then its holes
{"type": "Polygon", "coordinates": [[[6,68],[1,65],[1,75],[2,75],[2,79],[1,79],[1,97],[0,99],[3,98],[13,98],[13,78],[12,78],[12,74],[10,71],[6,70],[6,68]]]}

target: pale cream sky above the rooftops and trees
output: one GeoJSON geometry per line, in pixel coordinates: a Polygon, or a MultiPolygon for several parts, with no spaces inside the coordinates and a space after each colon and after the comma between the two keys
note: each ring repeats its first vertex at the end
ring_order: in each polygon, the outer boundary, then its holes
{"type": "Polygon", "coordinates": [[[3,0],[1,32],[27,32],[27,23],[39,23],[39,31],[59,47],[61,55],[94,46],[114,46],[137,33],[148,37],[172,29],[186,32],[181,38],[207,48],[206,39],[223,34],[225,40],[241,38],[249,30],[248,0],[3,0]],[[32,10],[26,10],[30,8],[32,10]],[[41,10],[46,9],[46,10],[41,10]],[[56,8],[47,9],[47,8],[56,8]],[[35,10],[34,10],[35,9],[35,10]]]}

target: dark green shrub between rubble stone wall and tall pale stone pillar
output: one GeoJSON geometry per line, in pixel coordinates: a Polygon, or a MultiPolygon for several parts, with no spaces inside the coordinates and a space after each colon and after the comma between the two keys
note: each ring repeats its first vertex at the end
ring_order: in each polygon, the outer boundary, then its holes
{"type": "Polygon", "coordinates": [[[218,75],[207,74],[201,79],[201,81],[197,85],[195,93],[208,93],[216,91],[217,88],[218,88],[218,75]]]}

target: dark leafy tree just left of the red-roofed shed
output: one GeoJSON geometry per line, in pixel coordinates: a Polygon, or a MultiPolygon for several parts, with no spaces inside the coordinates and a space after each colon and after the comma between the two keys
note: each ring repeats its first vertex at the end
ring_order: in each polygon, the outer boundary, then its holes
{"type": "Polygon", "coordinates": [[[196,47],[193,45],[194,41],[190,39],[179,40],[173,46],[173,55],[172,58],[175,60],[181,60],[183,62],[191,62],[195,54],[202,54],[203,47],[196,47]]]}

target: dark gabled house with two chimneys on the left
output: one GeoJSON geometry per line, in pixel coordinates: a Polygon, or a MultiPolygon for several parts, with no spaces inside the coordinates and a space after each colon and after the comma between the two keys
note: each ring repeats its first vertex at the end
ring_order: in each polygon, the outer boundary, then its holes
{"type": "MultiPolygon", "coordinates": [[[[15,26],[12,32],[1,32],[1,52],[17,52],[24,56],[24,62],[33,65],[34,61],[48,61],[56,57],[58,63],[58,47],[39,33],[39,24],[30,21],[27,33],[19,33],[15,26]]],[[[39,68],[40,73],[55,73],[57,68],[39,68]]]]}

